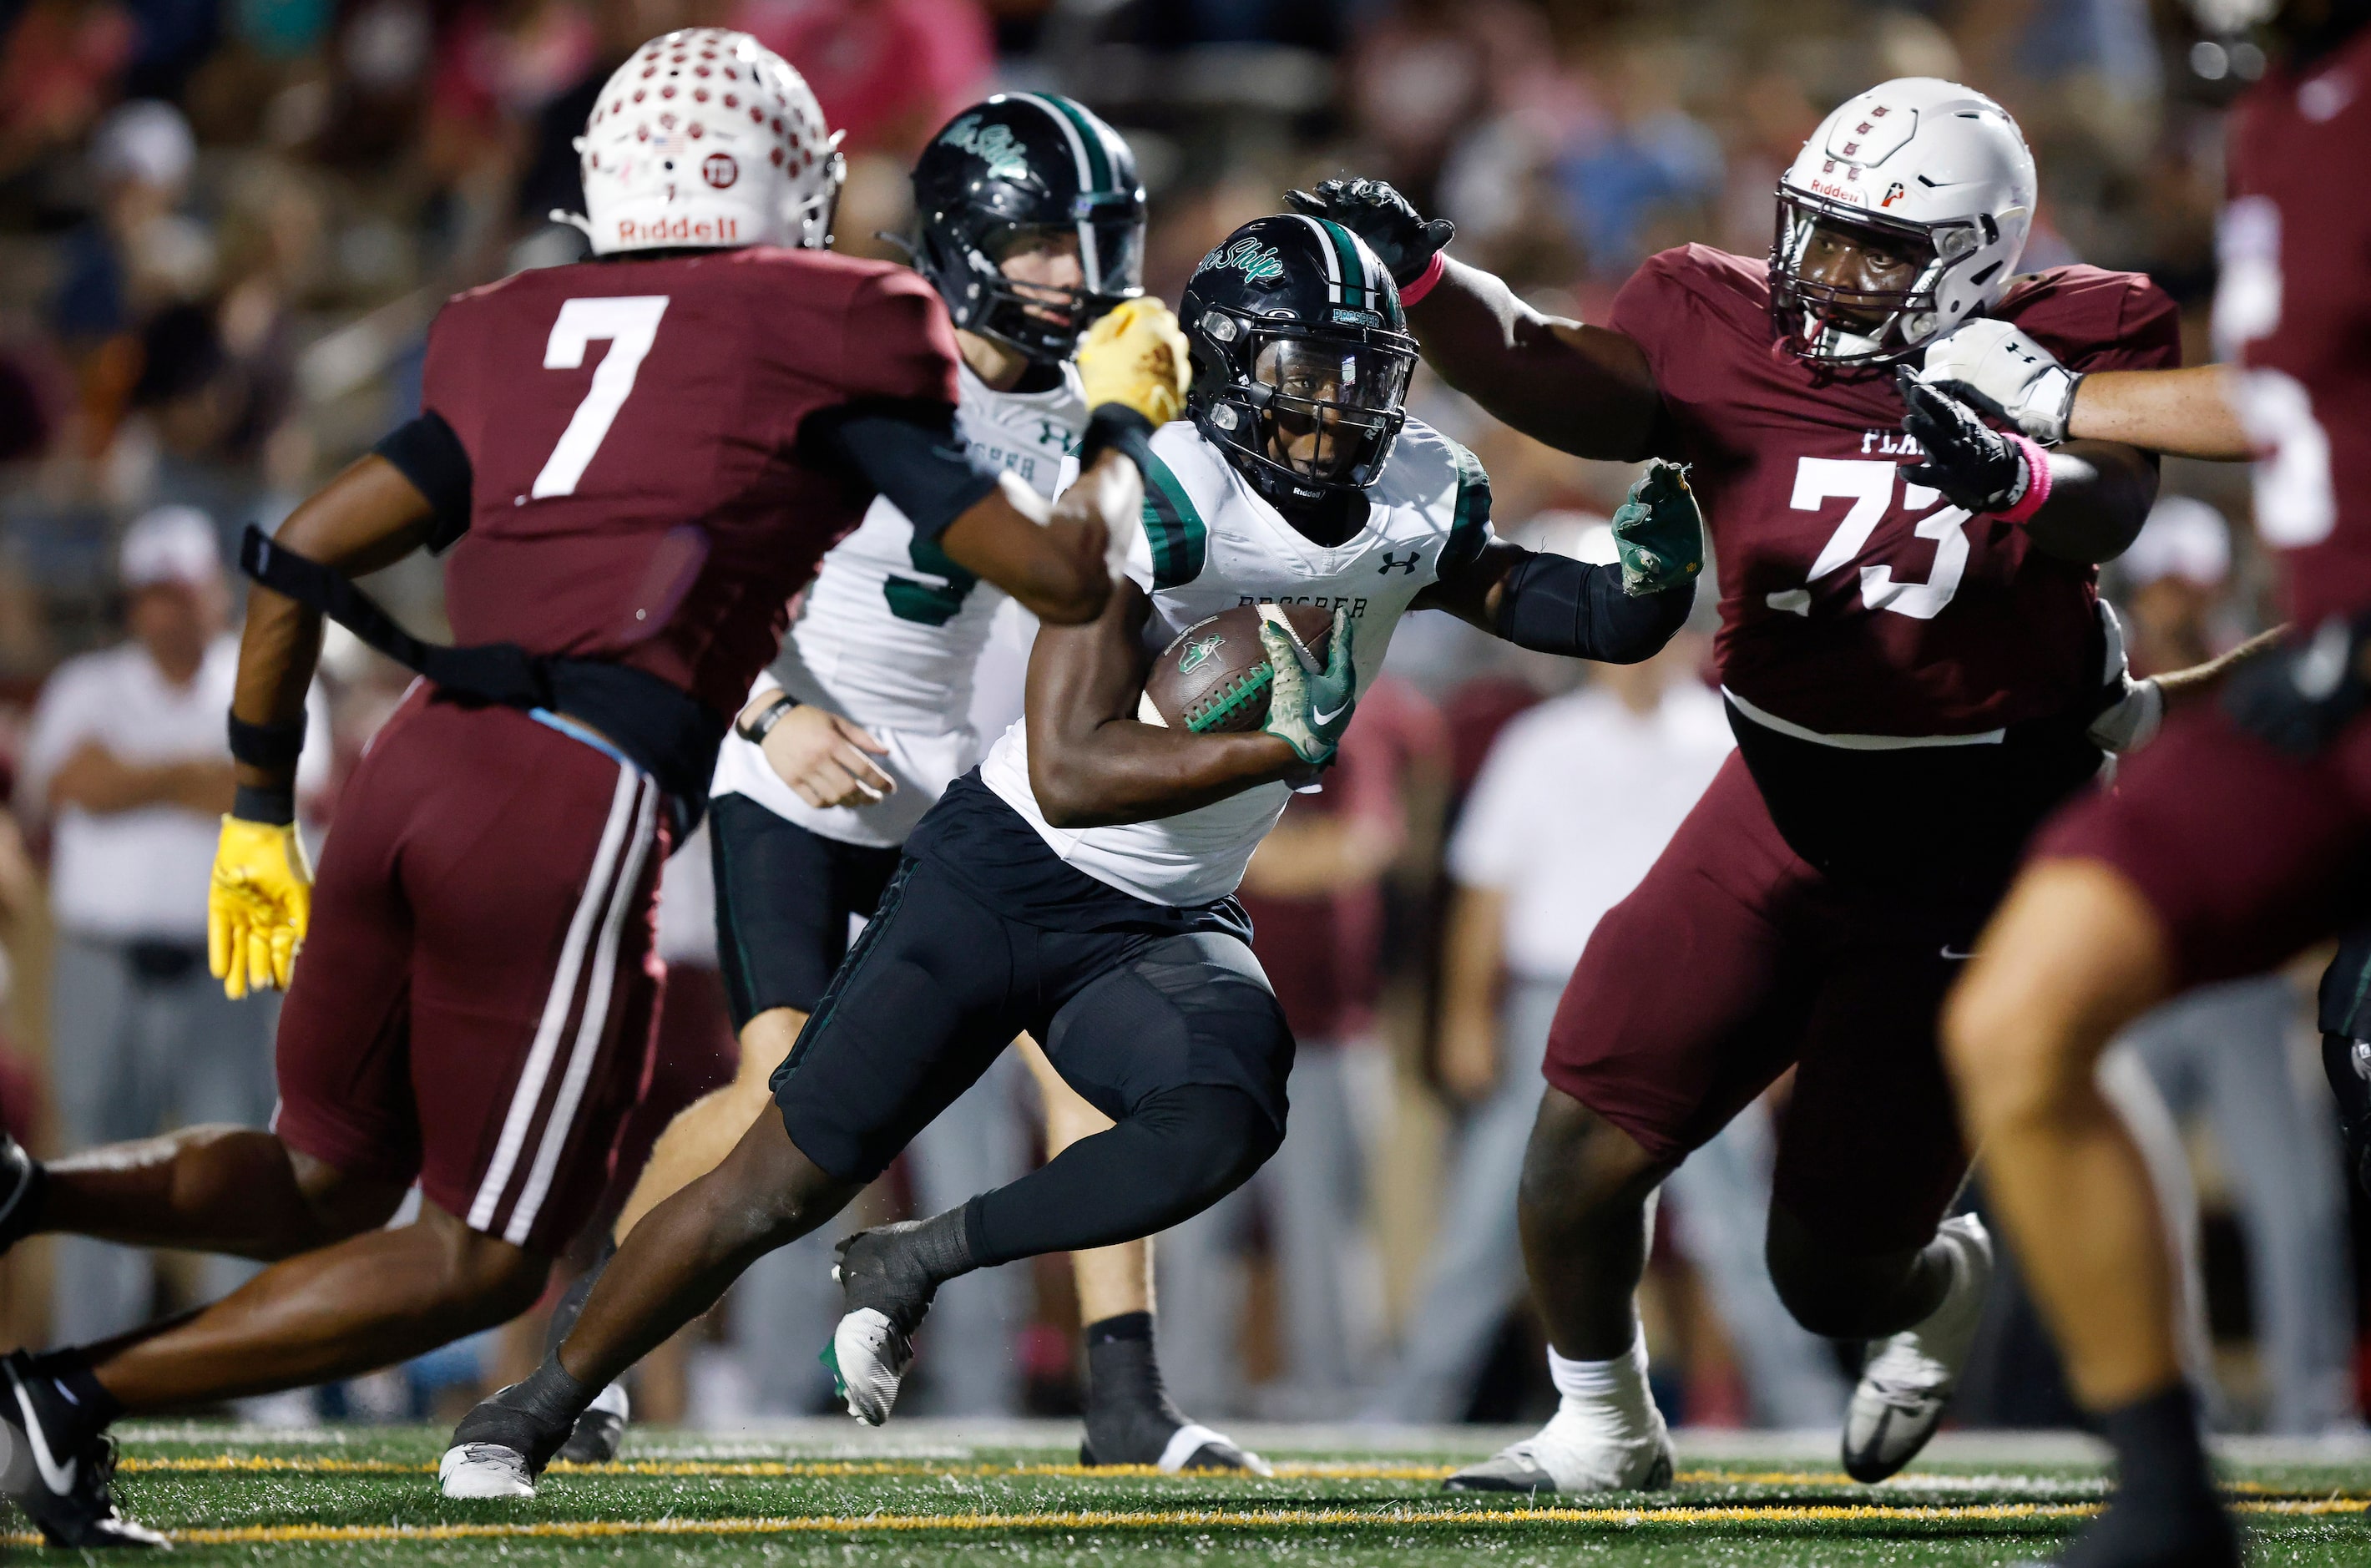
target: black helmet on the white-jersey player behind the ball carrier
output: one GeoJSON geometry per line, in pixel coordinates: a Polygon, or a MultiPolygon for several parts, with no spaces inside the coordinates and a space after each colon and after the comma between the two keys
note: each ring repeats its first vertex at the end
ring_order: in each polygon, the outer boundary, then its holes
{"type": "Polygon", "coordinates": [[[1145,292],[1136,154],[1067,97],[998,93],[951,119],[913,166],[913,263],[956,325],[1031,361],[1069,358],[1098,315],[1145,292]],[[1086,287],[1022,294],[1003,261],[1048,230],[1076,235],[1086,287]]]}

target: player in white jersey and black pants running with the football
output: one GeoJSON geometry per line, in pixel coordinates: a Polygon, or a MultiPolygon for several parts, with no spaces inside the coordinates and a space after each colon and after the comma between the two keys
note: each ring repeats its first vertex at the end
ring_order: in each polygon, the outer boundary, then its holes
{"type": "MultiPolygon", "coordinates": [[[[880,911],[707,1177],[626,1238],[543,1366],[455,1430],[448,1490],[526,1494],[579,1411],[761,1253],[835,1215],[1029,1032],[1112,1120],[1041,1169],[932,1219],[839,1243],[832,1362],[880,1423],[939,1283],[1150,1236],[1216,1203],[1283,1141],[1292,1034],[1233,899],[1295,788],[1318,783],[1406,610],[1546,652],[1631,662],[1681,626],[1702,520],[1655,467],[1615,520],[1622,567],[1496,541],[1489,479],[1401,410],[1415,339],[1347,228],[1259,218],[1202,259],[1181,308],[1190,422],[1088,434],[1143,463],[1131,584],[1038,633],[1027,716],[906,840],[880,911]],[[1304,667],[1266,624],[1268,716],[1247,733],[1138,719],[1176,631],[1240,605],[1333,610],[1304,667]]],[[[1091,334],[1093,344],[1093,334],[1091,334]]],[[[1280,619],[1280,617],[1276,617],[1280,619]]]]}

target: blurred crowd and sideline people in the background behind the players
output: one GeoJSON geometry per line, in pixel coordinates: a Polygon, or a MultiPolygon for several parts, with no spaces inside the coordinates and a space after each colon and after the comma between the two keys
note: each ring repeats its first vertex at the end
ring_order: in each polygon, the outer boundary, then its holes
{"type": "MultiPolygon", "coordinates": [[[[896,254],[903,168],[953,109],[1036,88],[1133,142],[1162,297],[1285,187],[1354,171],[1453,218],[1458,256],[1584,318],[1655,249],[1759,256],[1778,171],[1847,93],[1954,76],[2034,145],[2025,266],[2150,273],[2193,361],[2222,114],[2262,71],[2167,0],[0,0],[0,1115],[38,1150],[270,1113],[270,1003],[223,1003],[202,954],[230,792],[225,562],[239,529],[273,527],[413,410],[441,299],[581,256],[555,221],[579,202],[571,138],[633,45],[688,24],[747,28],[816,88],[846,133],[851,251],[896,254]]],[[[1513,436],[1423,377],[1413,408],[1482,455],[1503,531],[1605,548],[1627,470],[1513,436]]],[[[370,586],[441,631],[434,562],[370,586]]],[[[2108,588],[2143,671],[2262,629],[2245,477],[2167,465],[2108,588]]],[[[1401,631],[1340,788],[1295,804],[1247,885],[1302,1065],[1285,1155],[1162,1243],[1164,1355],[1197,1416],[1546,1409],[1513,1243],[1539,1041],[1589,925],[1657,849],[1610,842],[1605,802],[1669,828],[1726,752],[1705,652],[1688,636],[1581,686],[1442,617],[1401,631]]],[[[401,688],[332,636],[315,830],[334,833],[337,785],[401,688]]],[[[692,1008],[695,887],[669,923],[692,1008]]],[[[723,1025],[702,1003],[669,1027],[723,1025]]],[[[2236,1428],[2359,1421],[2366,1253],[2305,1030],[2295,982],[2271,977],[2150,1020],[2127,1053],[2198,1238],[2200,1373],[2236,1428]],[[2233,1034],[2252,1039],[2233,1053],[2233,1034]]],[[[1648,1336],[1657,1392],[1688,1421],[1809,1426],[1842,1404],[1849,1362],[1795,1331],[1759,1271],[1766,1115],[1664,1205],[1648,1336]]],[[[877,1212],[922,1186],[894,1174],[877,1212]]],[[[1010,1376],[932,1388],[925,1357],[918,1404],[1074,1400],[1067,1271],[1020,1271],[986,1328],[1010,1376]]],[[[92,1338],[235,1281],[28,1245],[0,1262],[0,1336],[92,1338]]],[[[811,1298],[744,1290],[652,1364],[645,1409],[813,1409],[820,1333],[790,1328],[827,1309],[811,1298]],[[759,1376],[790,1340],[804,1371],[759,1376]]],[[[422,1411],[498,1376],[515,1338],[258,1414],[422,1411]]],[[[2068,1419],[2015,1290],[1961,1419],[2068,1419]]]]}

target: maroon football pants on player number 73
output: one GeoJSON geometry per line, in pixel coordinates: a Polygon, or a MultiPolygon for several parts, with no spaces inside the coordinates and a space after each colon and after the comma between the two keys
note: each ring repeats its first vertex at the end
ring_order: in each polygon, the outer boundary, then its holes
{"type": "Polygon", "coordinates": [[[1774,1200],[1845,1255],[1925,1245],[1968,1172],[1935,1018],[1987,913],[1823,875],[1733,754],[1598,920],[1546,1077],[1676,1165],[1792,1065],[1774,1200]]]}

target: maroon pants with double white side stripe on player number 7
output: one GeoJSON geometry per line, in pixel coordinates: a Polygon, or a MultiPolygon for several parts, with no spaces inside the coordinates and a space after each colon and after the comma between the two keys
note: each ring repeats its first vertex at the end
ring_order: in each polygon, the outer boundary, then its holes
{"type": "Polygon", "coordinates": [[[669,826],[640,769],[417,686],[337,802],[280,1139],[557,1253],[650,1079],[669,826]]]}

